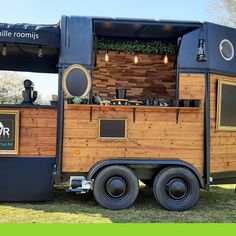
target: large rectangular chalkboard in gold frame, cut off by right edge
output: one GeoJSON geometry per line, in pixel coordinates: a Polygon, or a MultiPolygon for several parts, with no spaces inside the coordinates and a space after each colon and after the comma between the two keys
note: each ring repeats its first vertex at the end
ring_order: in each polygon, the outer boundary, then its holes
{"type": "Polygon", "coordinates": [[[218,81],[217,129],[236,131],[236,81],[218,81]]]}

